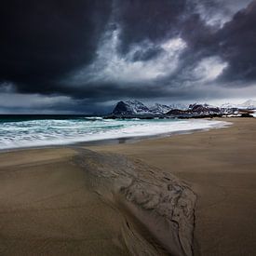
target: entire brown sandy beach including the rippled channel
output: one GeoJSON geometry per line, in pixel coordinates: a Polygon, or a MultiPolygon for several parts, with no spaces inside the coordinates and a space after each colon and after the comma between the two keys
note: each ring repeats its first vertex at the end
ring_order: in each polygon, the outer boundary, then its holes
{"type": "Polygon", "coordinates": [[[233,125],[1,153],[0,254],[255,255],[256,119],[222,120],[233,125]]]}

